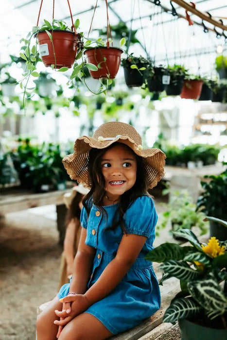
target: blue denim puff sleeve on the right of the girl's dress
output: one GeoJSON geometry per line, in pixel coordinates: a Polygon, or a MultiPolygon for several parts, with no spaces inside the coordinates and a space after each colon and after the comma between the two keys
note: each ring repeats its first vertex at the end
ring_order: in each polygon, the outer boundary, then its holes
{"type": "Polygon", "coordinates": [[[137,198],[125,212],[123,221],[128,234],[155,236],[157,212],[153,199],[149,196],[137,198]]]}

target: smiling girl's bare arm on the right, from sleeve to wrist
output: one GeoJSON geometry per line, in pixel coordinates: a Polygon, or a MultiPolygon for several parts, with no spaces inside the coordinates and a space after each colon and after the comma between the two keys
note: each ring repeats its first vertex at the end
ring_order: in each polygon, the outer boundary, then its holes
{"type": "Polygon", "coordinates": [[[99,279],[85,293],[90,305],[102,300],[117,287],[137,259],[146,239],[145,236],[135,234],[123,235],[116,257],[106,266],[99,279]]]}

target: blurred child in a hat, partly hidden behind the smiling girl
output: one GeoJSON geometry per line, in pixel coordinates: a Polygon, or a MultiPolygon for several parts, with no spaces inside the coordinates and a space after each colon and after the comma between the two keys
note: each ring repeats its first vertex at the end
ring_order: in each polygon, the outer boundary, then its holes
{"type": "Polygon", "coordinates": [[[61,256],[61,276],[59,289],[69,282],[69,276],[73,272],[73,261],[76,255],[81,235],[80,214],[83,207],[82,200],[88,193],[88,189],[81,184],[72,188],[70,193],[63,197],[68,208],[66,217],[66,235],[64,239],[64,251],[61,256]]]}

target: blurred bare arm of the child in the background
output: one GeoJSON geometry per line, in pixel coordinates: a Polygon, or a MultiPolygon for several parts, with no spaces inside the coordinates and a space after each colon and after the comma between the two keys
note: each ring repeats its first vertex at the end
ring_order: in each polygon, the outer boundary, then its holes
{"type": "Polygon", "coordinates": [[[71,219],[66,228],[66,235],[64,239],[64,255],[67,263],[67,274],[72,274],[74,262],[74,241],[77,229],[77,220],[71,219]]]}

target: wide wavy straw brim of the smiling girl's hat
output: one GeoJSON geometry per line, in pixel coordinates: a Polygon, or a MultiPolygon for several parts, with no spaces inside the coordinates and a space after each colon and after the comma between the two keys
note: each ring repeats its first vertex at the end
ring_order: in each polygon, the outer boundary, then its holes
{"type": "Polygon", "coordinates": [[[74,153],[65,156],[62,160],[70,178],[90,189],[91,184],[88,178],[89,151],[91,148],[105,149],[116,142],[127,145],[134,153],[142,157],[148,177],[149,188],[155,187],[164,175],[165,153],[160,149],[140,150],[138,144],[136,144],[133,139],[123,135],[117,136],[113,140],[102,141],[89,136],[77,138],[74,144],[74,153]]]}

